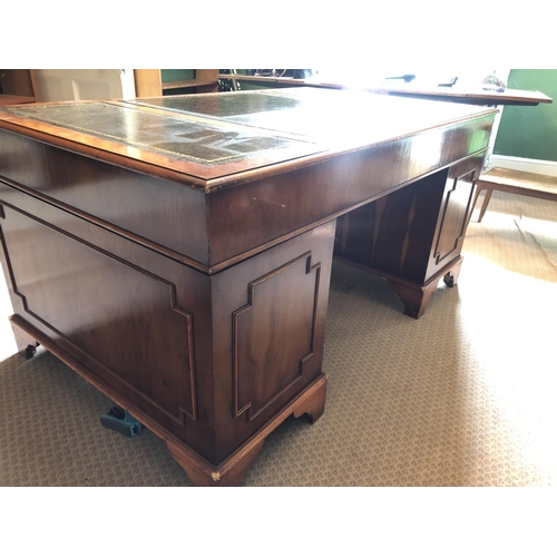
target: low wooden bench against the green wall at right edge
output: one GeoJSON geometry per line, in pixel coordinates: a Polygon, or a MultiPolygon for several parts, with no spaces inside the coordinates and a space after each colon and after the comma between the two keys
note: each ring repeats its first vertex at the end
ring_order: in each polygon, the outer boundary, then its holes
{"type": "Polygon", "coordinates": [[[483,190],[486,195],[481,204],[478,223],[481,223],[486,214],[494,190],[557,202],[557,177],[494,167],[482,174],[478,180],[476,197],[483,190]]]}

